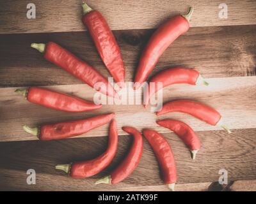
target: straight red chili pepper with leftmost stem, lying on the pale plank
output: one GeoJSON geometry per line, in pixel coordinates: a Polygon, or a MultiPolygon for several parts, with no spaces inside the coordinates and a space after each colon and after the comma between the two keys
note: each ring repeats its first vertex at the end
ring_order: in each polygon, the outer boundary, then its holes
{"type": "Polygon", "coordinates": [[[41,87],[17,89],[15,92],[22,94],[31,103],[65,112],[86,112],[99,109],[102,106],[68,94],[51,91],[41,87]]]}

